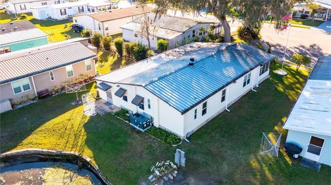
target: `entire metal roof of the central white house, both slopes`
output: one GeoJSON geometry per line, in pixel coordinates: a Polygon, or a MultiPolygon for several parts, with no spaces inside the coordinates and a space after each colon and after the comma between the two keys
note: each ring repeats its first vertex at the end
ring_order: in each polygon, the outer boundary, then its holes
{"type": "Polygon", "coordinates": [[[228,83],[273,58],[271,54],[245,44],[191,43],[97,80],[143,86],[185,113],[228,83]],[[195,59],[193,67],[188,65],[191,57],[195,59]]]}

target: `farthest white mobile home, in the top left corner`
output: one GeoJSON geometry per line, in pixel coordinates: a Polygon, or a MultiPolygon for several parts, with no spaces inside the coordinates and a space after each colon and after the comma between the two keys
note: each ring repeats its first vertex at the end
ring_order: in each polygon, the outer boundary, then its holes
{"type": "Polygon", "coordinates": [[[12,14],[31,12],[31,8],[66,3],[64,0],[9,0],[7,11],[12,14]]]}

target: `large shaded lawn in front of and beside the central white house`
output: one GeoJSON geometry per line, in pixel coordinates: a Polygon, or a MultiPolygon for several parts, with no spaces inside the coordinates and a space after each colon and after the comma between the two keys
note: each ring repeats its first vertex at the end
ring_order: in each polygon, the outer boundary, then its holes
{"type": "MultiPolygon", "coordinates": [[[[272,71],[280,65],[272,65],[272,71]]],[[[288,76],[265,80],[199,129],[186,152],[183,177],[188,184],[330,184],[331,167],[320,172],[300,166],[283,149],[279,157],[258,155],[261,134],[283,133],[283,121],[299,95],[308,72],[285,66],[288,76]]],[[[95,91],[94,87],[89,89],[95,91]]],[[[138,184],[147,179],[150,166],[173,160],[176,147],[153,140],[112,114],[83,116],[82,106],[72,106],[74,94],[41,100],[1,116],[1,153],[41,148],[78,151],[98,164],[114,184],[138,184]]],[[[181,184],[179,182],[178,184],[181,184]]]]}

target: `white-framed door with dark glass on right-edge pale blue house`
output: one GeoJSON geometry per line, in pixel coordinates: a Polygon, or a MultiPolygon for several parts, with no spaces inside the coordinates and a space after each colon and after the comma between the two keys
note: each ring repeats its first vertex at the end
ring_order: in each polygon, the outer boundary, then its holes
{"type": "Polygon", "coordinates": [[[310,142],[308,144],[307,152],[305,153],[305,157],[310,160],[319,162],[319,157],[321,155],[323,144],[324,144],[323,139],[312,136],[310,138],[310,142]]]}

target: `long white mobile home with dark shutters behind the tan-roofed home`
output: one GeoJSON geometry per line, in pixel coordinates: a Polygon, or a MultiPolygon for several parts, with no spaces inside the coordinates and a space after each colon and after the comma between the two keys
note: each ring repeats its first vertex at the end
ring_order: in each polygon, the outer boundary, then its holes
{"type": "Polygon", "coordinates": [[[112,2],[106,0],[76,1],[51,6],[31,8],[34,19],[68,19],[77,14],[101,12],[112,9],[112,2]]]}

